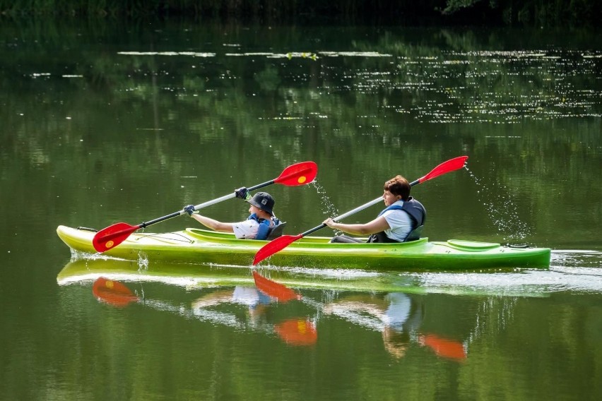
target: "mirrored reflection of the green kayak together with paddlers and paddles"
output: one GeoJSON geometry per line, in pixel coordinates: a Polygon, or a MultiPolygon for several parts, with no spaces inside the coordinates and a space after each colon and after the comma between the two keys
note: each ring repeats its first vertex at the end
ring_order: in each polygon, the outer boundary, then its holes
{"type": "Polygon", "coordinates": [[[317,344],[318,330],[332,333],[336,321],[343,320],[352,325],[339,335],[353,337],[359,334],[357,330],[374,330],[395,358],[416,347],[438,357],[466,358],[462,342],[439,335],[445,325],[436,321],[435,327],[433,321],[423,325],[425,297],[419,286],[389,282],[382,275],[356,272],[349,278],[322,277],[266,268],[145,267],[131,261],[84,259],[67,263],[57,282],[61,286],[94,283],[94,297],[111,306],[169,311],[235,332],[264,333],[291,346],[317,344]]]}

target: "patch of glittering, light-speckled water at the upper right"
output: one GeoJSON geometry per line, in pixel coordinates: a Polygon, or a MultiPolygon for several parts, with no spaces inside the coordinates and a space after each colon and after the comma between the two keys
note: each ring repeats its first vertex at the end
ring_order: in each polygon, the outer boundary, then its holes
{"type": "Polygon", "coordinates": [[[602,116],[600,58],[598,52],[442,52],[400,57],[393,71],[381,71],[381,79],[361,71],[346,76],[354,77],[352,86],[360,92],[420,93],[421,101],[409,110],[386,105],[420,121],[516,124],[602,116]]]}

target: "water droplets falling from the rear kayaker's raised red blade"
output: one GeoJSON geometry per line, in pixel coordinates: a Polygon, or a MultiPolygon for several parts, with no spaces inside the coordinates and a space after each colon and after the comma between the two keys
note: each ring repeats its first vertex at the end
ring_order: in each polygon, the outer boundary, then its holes
{"type": "Polygon", "coordinates": [[[526,225],[526,222],[522,221],[519,217],[517,212],[519,207],[512,201],[512,198],[506,197],[500,203],[499,198],[493,195],[500,193],[500,191],[503,193],[510,193],[510,191],[504,185],[500,184],[499,181],[490,185],[485,184],[468,167],[464,166],[464,168],[475,181],[475,184],[477,184],[479,188],[477,191],[478,200],[483,203],[485,210],[488,211],[488,215],[497,232],[504,236],[505,241],[514,243],[524,242],[526,237],[529,237],[532,232],[531,228],[526,225]]]}

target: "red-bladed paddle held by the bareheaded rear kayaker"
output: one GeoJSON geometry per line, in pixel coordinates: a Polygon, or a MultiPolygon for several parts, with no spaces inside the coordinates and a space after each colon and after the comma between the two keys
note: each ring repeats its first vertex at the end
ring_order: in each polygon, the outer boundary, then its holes
{"type": "MultiPolygon", "coordinates": [[[[447,162],[442,162],[437,167],[432,169],[425,176],[420,177],[416,181],[412,181],[410,183],[410,186],[415,186],[416,184],[422,184],[423,182],[433,179],[442,174],[447,174],[449,172],[453,172],[454,170],[461,169],[466,164],[467,159],[468,159],[468,156],[459,156],[459,157],[454,157],[454,159],[447,160],[447,162]]],[[[343,220],[345,217],[349,217],[350,215],[358,213],[360,210],[364,210],[365,208],[368,208],[379,202],[382,202],[382,196],[379,196],[378,198],[371,200],[370,202],[365,203],[364,205],[361,205],[358,208],[350,210],[347,213],[343,213],[342,215],[340,215],[338,217],[334,217],[333,220],[334,221],[343,220]]],[[[322,223],[321,225],[314,227],[312,229],[309,229],[306,232],[303,232],[302,234],[283,235],[282,237],[278,237],[278,238],[274,239],[273,241],[268,242],[268,244],[262,246],[261,249],[259,249],[259,251],[257,251],[257,253],[255,253],[253,265],[256,265],[257,263],[263,261],[265,258],[269,258],[274,253],[285,249],[287,246],[289,246],[290,244],[293,244],[293,242],[297,241],[297,239],[302,239],[306,235],[312,234],[312,232],[316,232],[319,229],[323,229],[324,227],[326,227],[326,225],[324,223],[322,223]]]]}

